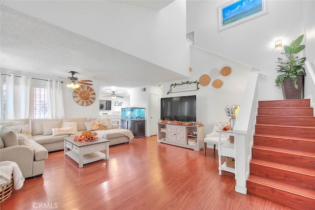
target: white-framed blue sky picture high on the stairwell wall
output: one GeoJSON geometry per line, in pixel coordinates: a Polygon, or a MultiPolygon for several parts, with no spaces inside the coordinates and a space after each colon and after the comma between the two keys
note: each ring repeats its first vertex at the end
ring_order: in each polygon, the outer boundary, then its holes
{"type": "Polygon", "coordinates": [[[219,31],[267,13],[267,0],[232,0],[218,7],[219,31]]]}

